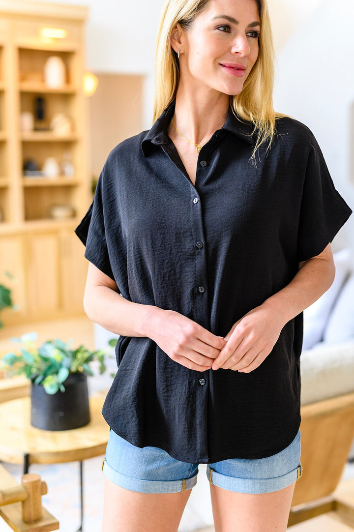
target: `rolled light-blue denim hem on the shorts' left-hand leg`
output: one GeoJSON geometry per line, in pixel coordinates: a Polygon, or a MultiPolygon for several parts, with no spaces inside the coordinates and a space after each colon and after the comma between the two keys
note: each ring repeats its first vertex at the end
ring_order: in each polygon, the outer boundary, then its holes
{"type": "Polygon", "coordinates": [[[139,493],[180,493],[192,489],[196,485],[197,472],[191,478],[182,480],[144,480],[127,477],[113,469],[106,460],[103,461],[104,475],[117,486],[139,493]]]}

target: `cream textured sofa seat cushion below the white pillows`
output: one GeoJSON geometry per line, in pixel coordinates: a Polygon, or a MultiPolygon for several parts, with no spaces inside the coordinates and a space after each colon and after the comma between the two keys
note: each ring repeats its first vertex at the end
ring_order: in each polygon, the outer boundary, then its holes
{"type": "Polygon", "coordinates": [[[302,405],[354,392],[354,340],[317,344],[302,352],[300,366],[302,405]]]}

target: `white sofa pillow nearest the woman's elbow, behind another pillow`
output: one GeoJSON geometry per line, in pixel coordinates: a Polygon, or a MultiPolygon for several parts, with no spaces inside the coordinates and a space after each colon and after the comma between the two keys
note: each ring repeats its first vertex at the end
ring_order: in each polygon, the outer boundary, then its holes
{"type": "Polygon", "coordinates": [[[326,323],[334,302],[351,272],[349,250],[334,254],[335,279],[332,286],[315,303],[303,312],[303,349],[307,350],[324,337],[326,323]]]}

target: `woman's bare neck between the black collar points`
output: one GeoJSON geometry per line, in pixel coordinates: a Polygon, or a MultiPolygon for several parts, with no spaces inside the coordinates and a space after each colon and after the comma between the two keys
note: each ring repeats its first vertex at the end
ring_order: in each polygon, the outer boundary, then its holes
{"type": "Polygon", "coordinates": [[[179,85],[175,114],[172,118],[179,131],[193,143],[203,143],[223,127],[229,109],[229,96],[211,91],[196,94],[179,85]]]}

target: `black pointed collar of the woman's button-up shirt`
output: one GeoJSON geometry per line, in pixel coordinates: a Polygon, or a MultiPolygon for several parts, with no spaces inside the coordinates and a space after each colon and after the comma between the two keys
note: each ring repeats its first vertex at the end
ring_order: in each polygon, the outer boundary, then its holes
{"type": "MultiPolygon", "coordinates": [[[[172,102],[166,110],[160,115],[157,121],[153,124],[150,131],[142,140],[142,151],[147,157],[151,153],[152,144],[160,146],[161,144],[168,144],[169,137],[167,135],[167,127],[175,112],[175,102],[172,102]]],[[[229,109],[224,126],[220,131],[229,131],[237,137],[246,140],[249,144],[254,144],[255,139],[253,135],[254,126],[251,122],[246,122],[236,117],[232,110],[229,109]]]]}

